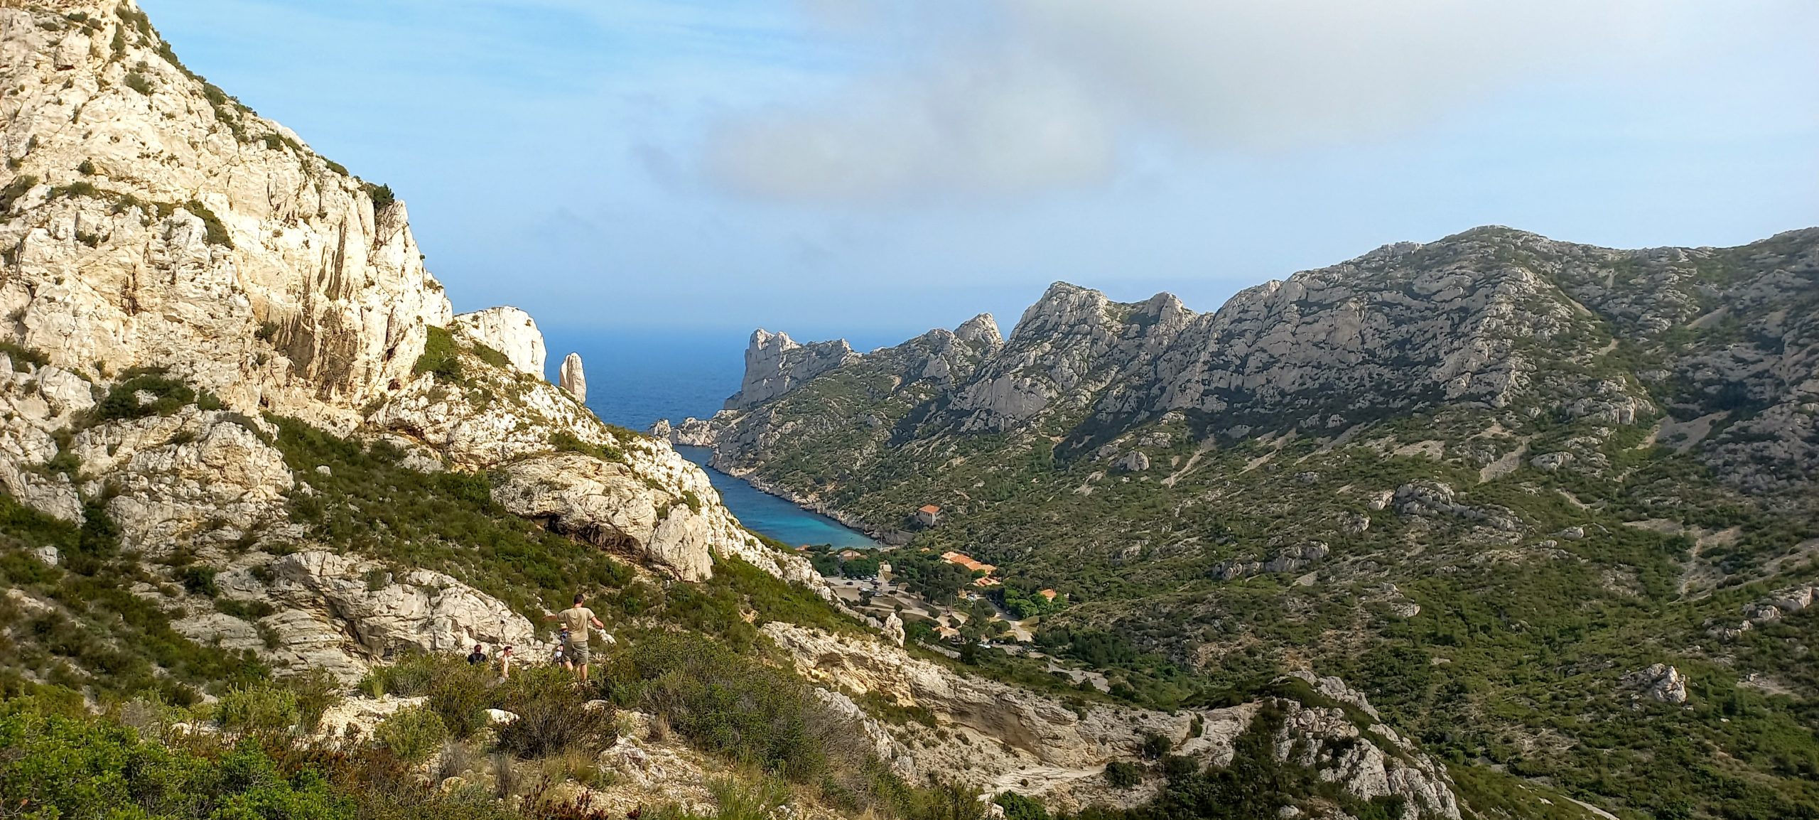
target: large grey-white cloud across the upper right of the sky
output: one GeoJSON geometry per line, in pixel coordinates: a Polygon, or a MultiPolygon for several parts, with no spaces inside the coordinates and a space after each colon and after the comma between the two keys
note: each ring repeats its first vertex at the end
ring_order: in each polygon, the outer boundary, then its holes
{"type": "MultiPolygon", "coordinates": [[[[802,2],[829,18],[826,0],[802,2]]],[[[829,202],[1033,193],[1106,178],[1130,140],[1248,153],[1379,138],[1524,84],[1626,82],[1681,47],[1710,56],[1732,29],[1812,18],[1768,0],[1706,20],[1686,0],[864,5],[884,11],[822,36],[895,45],[897,65],[726,120],[708,140],[715,178],[829,202]]]]}

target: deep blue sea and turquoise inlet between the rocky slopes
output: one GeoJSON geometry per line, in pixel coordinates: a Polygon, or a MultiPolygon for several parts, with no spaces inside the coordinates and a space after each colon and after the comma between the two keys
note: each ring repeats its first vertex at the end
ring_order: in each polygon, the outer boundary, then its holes
{"type": "MultiPolygon", "coordinates": [[[[580,353],[588,375],[588,407],[608,424],[649,429],[658,418],[680,422],[708,418],[726,396],[739,393],[746,371],[749,331],[564,331],[544,329],[549,345],[549,376],[562,356],[580,353]]],[[[704,447],[677,447],[700,464],[720,500],[755,533],[784,544],[828,544],[839,549],[869,549],[879,544],[820,513],[760,493],[740,478],[708,467],[704,447]]]]}

